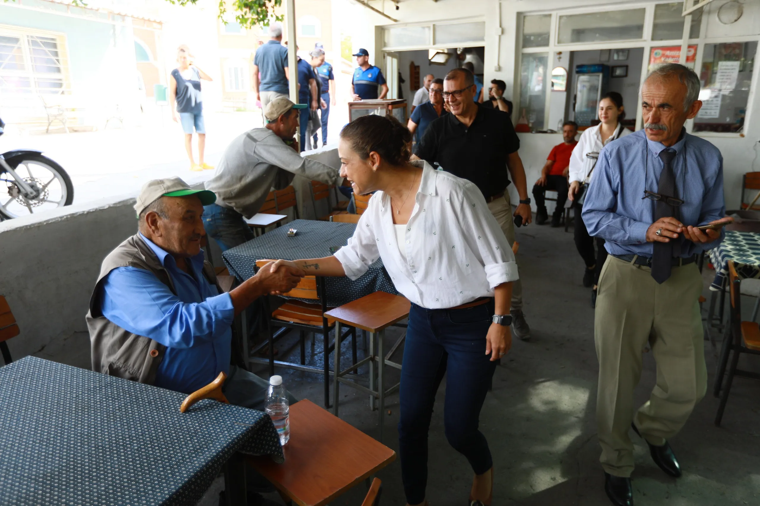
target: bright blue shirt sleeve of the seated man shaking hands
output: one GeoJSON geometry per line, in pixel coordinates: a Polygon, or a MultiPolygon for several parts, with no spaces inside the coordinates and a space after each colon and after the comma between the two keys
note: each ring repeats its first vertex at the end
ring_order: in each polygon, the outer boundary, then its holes
{"type": "Polygon", "coordinates": [[[117,267],[101,288],[101,311],[119,327],[163,346],[190,348],[228,334],[235,317],[229,293],[204,302],[182,302],[144,269],[117,267]]]}

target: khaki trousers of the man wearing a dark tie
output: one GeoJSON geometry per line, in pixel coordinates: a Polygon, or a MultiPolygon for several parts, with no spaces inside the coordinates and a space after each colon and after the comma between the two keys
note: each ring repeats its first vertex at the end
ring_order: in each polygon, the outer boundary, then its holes
{"type": "Polygon", "coordinates": [[[649,267],[607,258],[599,277],[594,342],[599,359],[597,427],[607,473],[631,476],[631,422],[655,445],[676,435],[705,396],[707,369],[695,263],[673,267],[657,284],[649,267]],[[657,384],[633,415],[646,344],[657,362],[657,384]]]}

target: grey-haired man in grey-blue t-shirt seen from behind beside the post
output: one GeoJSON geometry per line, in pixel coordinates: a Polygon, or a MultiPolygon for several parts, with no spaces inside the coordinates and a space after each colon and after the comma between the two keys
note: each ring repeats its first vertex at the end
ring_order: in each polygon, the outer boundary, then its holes
{"type": "Polygon", "coordinates": [[[277,96],[288,96],[287,47],[282,45],[282,25],[272,23],[269,36],[270,40],[261,44],[253,57],[253,93],[261,102],[261,110],[277,96]]]}

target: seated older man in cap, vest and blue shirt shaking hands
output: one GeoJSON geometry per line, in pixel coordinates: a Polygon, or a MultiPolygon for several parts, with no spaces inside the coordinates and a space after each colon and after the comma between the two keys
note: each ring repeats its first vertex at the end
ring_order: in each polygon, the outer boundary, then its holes
{"type": "Polygon", "coordinates": [[[224,372],[230,403],[263,410],[268,383],[242,366],[233,318],[304,274],[261,269],[223,293],[201,251],[203,206],[216,198],[177,177],[145,183],[135,204],[138,233],[103,260],[90,298],[93,371],[185,394],[224,372]]]}

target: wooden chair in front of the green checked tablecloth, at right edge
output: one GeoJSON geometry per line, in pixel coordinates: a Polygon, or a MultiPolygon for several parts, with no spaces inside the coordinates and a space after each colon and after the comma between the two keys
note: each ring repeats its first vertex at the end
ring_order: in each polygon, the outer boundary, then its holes
{"type": "Polygon", "coordinates": [[[733,265],[733,260],[728,261],[728,275],[731,315],[727,331],[724,334],[723,349],[720,352],[720,362],[718,363],[714,385],[715,396],[717,397],[720,394],[720,405],[715,414],[715,425],[717,427],[720,427],[720,420],[723,419],[723,412],[726,409],[733,377],[742,376],[744,378],[760,379],[760,374],[756,372],[742,371],[736,368],[736,365],[739,363],[740,354],[760,355],[760,325],[754,321],[742,321],[742,298],[739,291],[741,280],[736,275],[736,267],[733,265]],[[731,357],[731,363],[728,365],[726,384],[721,389],[728,357],[732,351],[733,357],[731,357]]]}

